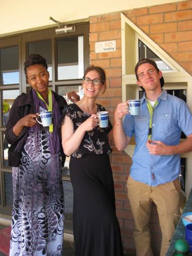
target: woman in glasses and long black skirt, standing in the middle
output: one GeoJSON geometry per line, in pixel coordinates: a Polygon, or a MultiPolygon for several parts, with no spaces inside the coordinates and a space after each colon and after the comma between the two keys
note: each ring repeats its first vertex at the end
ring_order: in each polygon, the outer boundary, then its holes
{"type": "Polygon", "coordinates": [[[95,100],[106,88],[105,73],[90,67],[82,79],[84,97],[63,112],[62,146],[70,159],[74,190],[73,230],[77,256],[122,256],[110,164],[112,125],[98,126],[95,100]]]}

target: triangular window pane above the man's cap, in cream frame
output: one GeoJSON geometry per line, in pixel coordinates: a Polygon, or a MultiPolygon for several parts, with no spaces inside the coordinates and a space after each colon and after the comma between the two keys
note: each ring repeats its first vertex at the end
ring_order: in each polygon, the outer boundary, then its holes
{"type": "Polygon", "coordinates": [[[139,40],[139,60],[148,58],[156,62],[159,70],[172,70],[162,59],[160,59],[150,48],[139,40]]]}

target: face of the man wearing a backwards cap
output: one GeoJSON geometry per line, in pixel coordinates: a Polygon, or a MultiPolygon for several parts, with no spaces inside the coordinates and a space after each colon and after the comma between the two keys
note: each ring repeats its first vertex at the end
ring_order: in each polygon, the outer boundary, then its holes
{"type": "Polygon", "coordinates": [[[162,72],[157,71],[156,68],[150,63],[144,63],[138,67],[137,70],[138,81],[137,84],[147,91],[161,92],[160,78],[162,72]]]}

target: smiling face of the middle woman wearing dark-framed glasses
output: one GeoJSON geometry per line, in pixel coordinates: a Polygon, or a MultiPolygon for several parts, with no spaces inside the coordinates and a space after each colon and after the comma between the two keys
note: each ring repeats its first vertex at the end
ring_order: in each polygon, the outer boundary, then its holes
{"type": "MultiPolygon", "coordinates": [[[[99,76],[99,73],[95,70],[89,71],[86,74],[85,78],[89,78],[91,80],[101,79],[99,76]]],[[[89,84],[82,82],[82,88],[83,88],[84,95],[86,95],[87,97],[95,98],[97,97],[100,91],[104,90],[104,85],[102,82],[100,82],[98,86],[95,86],[92,81],[90,81],[89,84]]]]}

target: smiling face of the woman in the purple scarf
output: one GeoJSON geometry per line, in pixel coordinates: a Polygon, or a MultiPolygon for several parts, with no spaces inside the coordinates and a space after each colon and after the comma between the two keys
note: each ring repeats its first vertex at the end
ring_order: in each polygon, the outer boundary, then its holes
{"type": "Polygon", "coordinates": [[[27,68],[27,81],[43,98],[47,98],[49,85],[49,72],[40,65],[34,64],[27,68]]]}

